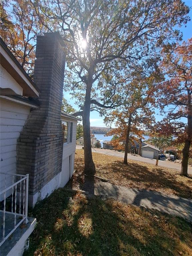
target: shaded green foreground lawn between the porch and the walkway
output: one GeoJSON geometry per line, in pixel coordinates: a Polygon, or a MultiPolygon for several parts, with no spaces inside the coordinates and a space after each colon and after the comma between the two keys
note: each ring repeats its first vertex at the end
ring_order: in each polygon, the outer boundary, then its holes
{"type": "Polygon", "coordinates": [[[176,256],[180,238],[189,250],[190,225],[182,219],[110,199],[71,201],[65,193],[57,190],[36,205],[38,224],[25,256],[176,256]]]}

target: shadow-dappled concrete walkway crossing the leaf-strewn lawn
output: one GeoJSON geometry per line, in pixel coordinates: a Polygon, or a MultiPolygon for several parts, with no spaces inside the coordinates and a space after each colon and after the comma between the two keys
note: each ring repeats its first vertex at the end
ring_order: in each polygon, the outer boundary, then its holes
{"type": "Polygon", "coordinates": [[[128,189],[101,181],[95,184],[94,194],[113,197],[124,203],[156,209],[192,221],[192,199],[145,189],[128,189]]]}

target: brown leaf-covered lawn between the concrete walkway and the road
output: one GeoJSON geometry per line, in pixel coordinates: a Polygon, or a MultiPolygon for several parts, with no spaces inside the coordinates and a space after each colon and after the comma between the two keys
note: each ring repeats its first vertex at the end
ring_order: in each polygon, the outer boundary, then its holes
{"type": "MultiPolygon", "coordinates": [[[[94,153],[93,161],[96,167],[96,175],[109,179],[115,185],[127,188],[148,189],[192,198],[192,176],[182,177],[178,171],[163,167],[155,167],[152,164],[130,160],[128,165],[123,164],[123,159],[94,153]]],[[[77,149],[75,154],[76,172],[69,184],[73,188],[82,189],[84,183],[84,151],[77,149]]]]}

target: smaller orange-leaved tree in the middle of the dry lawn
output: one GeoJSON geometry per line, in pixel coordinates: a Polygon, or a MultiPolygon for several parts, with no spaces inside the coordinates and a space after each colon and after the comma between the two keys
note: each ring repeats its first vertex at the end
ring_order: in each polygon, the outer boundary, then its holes
{"type": "Polygon", "coordinates": [[[149,129],[154,122],[152,108],[154,92],[157,82],[162,79],[157,67],[156,69],[148,77],[134,71],[131,74],[132,81],[122,88],[125,90],[124,95],[126,96],[123,99],[123,106],[118,107],[105,118],[106,123],[116,121],[117,128],[112,129],[107,134],[116,135],[117,138],[111,144],[125,150],[124,164],[127,164],[129,144],[130,142],[134,143],[135,140],[134,137],[130,136],[130,133],[132,132],[141,138],[143,129],[149,129]]]}

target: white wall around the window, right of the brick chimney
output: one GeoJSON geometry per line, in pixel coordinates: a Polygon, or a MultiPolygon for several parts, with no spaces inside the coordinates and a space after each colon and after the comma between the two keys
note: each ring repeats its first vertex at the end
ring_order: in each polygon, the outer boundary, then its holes
{"type": "Polygon", "coordinates": [[[62,117],[62,120],[73,122],[72,143],[63,144],[63,160],[62,160],[62,177],[63,177],[62,183],[63,184],[61,184],[61,186],[63,187],[69,181],[69,179],[71,178],[74,172],[77,121],[69,118],[64,118],[64,117],[62,117]],[[69,165],[69,156],[71,156],[70,165],[69,165]]]}

